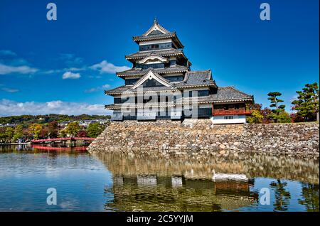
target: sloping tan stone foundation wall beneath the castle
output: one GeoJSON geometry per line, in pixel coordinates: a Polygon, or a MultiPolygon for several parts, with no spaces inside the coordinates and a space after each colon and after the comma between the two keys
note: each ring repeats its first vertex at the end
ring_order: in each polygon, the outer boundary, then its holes
{"type": "Polygon", "coordinates": [[[250,151],[319,156],[319,124],[217,125],[210,119],[112,122],[87,150],[161,156],[250,151]]]}

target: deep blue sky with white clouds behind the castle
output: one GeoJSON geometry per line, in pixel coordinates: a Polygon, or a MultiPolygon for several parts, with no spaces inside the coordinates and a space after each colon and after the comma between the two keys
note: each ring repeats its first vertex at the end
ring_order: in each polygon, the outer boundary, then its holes
{"type": "Polygon", "coordinates": [[[0,115],[105,114],[123,85],[115,71],[138,46],[154,17],[176,31],[192,70],[213,70],[218,86],[234,85],[269,105],[282,92],[319,82],[319,1],[0,1],[0,115]],[[54,2],[58,20],[48,21],[54,2]],[[260,20],[260,4],[271,20],[260,20]]]}

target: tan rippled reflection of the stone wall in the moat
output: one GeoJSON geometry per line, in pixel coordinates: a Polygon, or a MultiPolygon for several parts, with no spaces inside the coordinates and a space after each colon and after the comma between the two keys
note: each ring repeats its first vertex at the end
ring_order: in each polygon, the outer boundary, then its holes
{"type": "Polygon", "coordinates": [[[218,173],[230,173],[247,178],[268,177],[319,184],[319,158],[245,153],[193,159],[138,154],[95,153],[94,156],[105,163],[113,175],[183,176],[212,180],[218,173]]]}

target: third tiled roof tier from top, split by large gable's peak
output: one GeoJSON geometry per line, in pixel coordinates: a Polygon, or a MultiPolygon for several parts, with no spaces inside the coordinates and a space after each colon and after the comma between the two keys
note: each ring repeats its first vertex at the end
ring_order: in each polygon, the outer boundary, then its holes
{"type": "MultiPolygon", "coordinates": [[[[142,70],[139,68],[132,68],[129,70],[124,70],[122,72],[117,72],[117,75],[122,77],[122,76],[135,76],[135,75],[145,75],[146,72],[148,72],[149,69],[142,70]]],[[[176,73],[176,72],[187,72],[188,68],[181,66],[181,65],[176,65],[174,67],[170,68],[155,68],[154,72],[158,74],[167,74],[167,73],[176,73]]]]}

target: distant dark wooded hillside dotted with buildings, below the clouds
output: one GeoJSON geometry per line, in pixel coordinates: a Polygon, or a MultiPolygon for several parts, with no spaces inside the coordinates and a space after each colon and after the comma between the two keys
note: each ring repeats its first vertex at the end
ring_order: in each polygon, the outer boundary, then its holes
{"type": "Polygon", "coordinates": [[[83,121],[95,119],[110,119],[109,115],[68,115],[68,114],[43,114],[0,117],[0,124],[46,124],[49,122],[83,121]]]}

